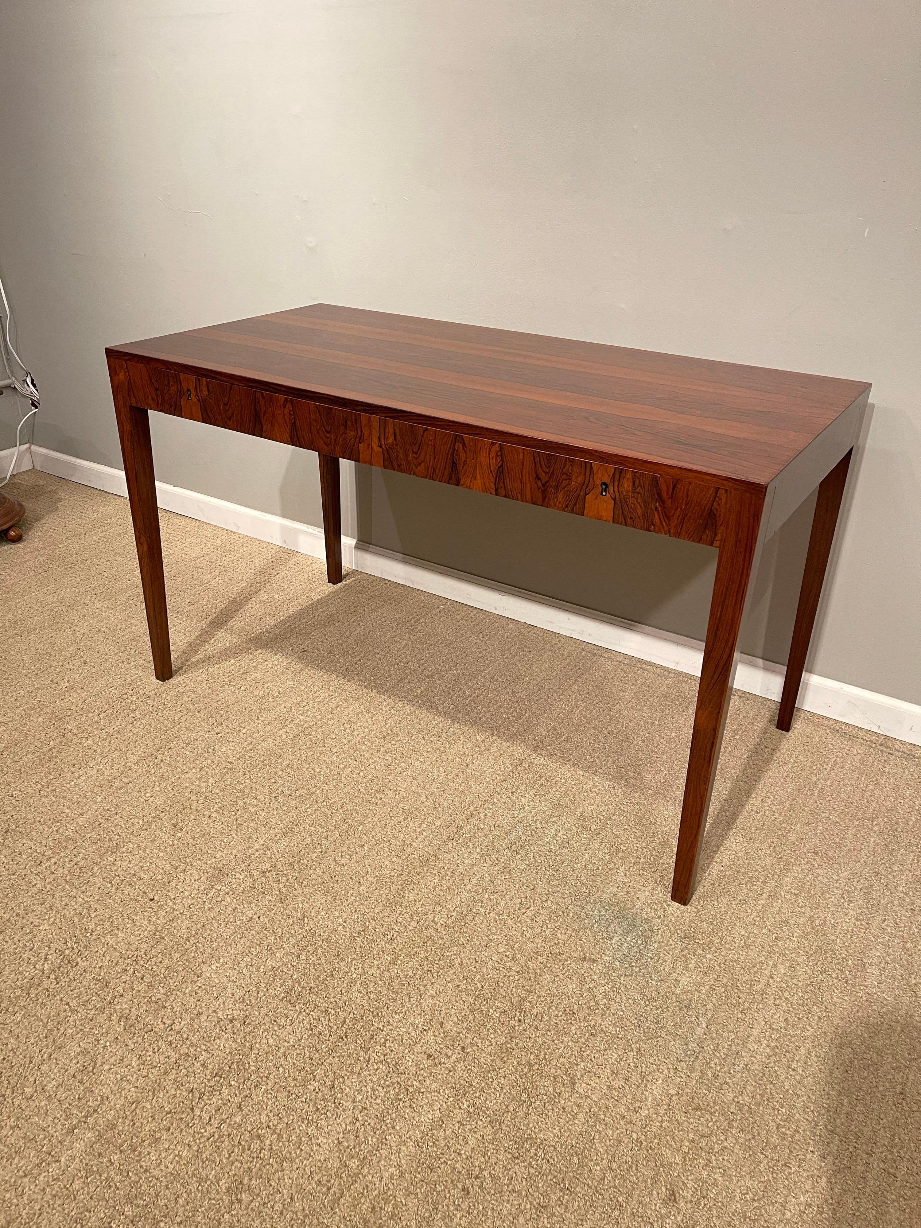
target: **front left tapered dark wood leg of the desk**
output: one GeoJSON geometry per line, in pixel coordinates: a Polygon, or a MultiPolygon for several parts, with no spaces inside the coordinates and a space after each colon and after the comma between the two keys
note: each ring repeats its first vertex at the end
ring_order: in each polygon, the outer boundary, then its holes
{"type": "Polygon", "coordinates": [[[154,479],[154,453],[150,446],[150,422],[147,410],[129,405],[118,391],[115,391],[115,419],[125,463],[134,539],[138,543],[138,564],[141,569],[144,605],[147,610],[154,673],[161,683],[165,683],[173,677],[173,662],[169,655],[163,549],[160,543],[160,512],[154,479]]]}

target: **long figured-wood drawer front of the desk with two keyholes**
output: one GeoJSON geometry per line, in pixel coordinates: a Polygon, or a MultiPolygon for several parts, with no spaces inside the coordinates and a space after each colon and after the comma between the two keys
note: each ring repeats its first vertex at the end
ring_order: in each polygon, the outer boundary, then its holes
{"type": "Polygon", "coordinates": [[[129,404],[327,456],[553,507],[628,528],[720,544],[725,492],[383,414],[319,405],[142,362],[111,360],[129,404]]]}

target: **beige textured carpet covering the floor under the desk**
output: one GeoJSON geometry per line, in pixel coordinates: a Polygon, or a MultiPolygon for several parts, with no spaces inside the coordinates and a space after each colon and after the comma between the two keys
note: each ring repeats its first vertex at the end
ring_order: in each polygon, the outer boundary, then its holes
{"type": "Polygon", "coordinates": [[[2,1226],[920,1222],[915,748],[14,484],[2,1226]]]}

